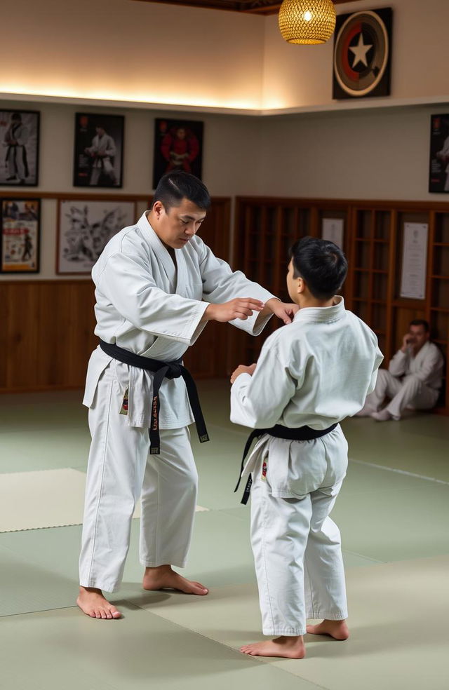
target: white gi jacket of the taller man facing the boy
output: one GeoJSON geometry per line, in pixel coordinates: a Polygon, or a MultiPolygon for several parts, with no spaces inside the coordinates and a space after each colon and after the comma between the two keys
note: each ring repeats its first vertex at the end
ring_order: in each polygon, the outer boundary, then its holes
{"type": "MultiPolygon", "coordinates": [[[[116,234],[92,270],[95,334],[140,356],[170,362],[181,358],[201,334],[207,322],[200,321],[208,302],[223,303],[236,297],[267,302],[274,297],[241,271],[233,272],[197,236],[182,249],[175,249],[175,257],[177,269],[146,212],[136,225],[116,234]]],[[[231,323],[258,335],[270,316],[261,318],[253,313],[248,320],[231,323]]],[[[93,351],[83,405],[93,405],[98,379],[111,362],[100,347],[93,351]]],[[[149,426],[154,374],[116,360],[112,365],[123,393],[128,388],[129,426],[149,426]]],[[[182,378],[164,379],[159,395],[160,428],[192,424],[194,418],[182,378]]]]}

